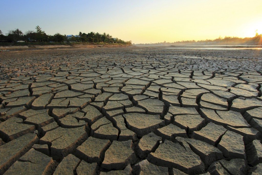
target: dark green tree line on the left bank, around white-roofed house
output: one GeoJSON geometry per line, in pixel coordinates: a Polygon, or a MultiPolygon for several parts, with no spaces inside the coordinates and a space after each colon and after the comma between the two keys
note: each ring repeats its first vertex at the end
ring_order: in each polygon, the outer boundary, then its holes
{"type": "Polygon", "coordinates": [[[0,42],[88,42],[88,43],[119,43],[119,44],[132,44],[132,41],[124,41],[118,38],[112,38],[111,35],[98,32],[82,33],[75,37],[74,35],[67,38],[66,35],[56,33],[54,35],[47,35],[45,31],[39,26],[36,26],[36,30],[28,30],[23,33],[20,29],[9,30],[6,35],[0,30],[0,42]]]}

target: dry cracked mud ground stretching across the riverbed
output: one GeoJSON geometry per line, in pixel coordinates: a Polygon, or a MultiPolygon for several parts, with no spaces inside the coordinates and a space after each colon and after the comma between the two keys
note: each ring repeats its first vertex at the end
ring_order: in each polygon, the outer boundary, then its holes
{"type": "Polygon", "coordinates": [[[262,172],[259,50],[0,58],[0,174],[262,172]]]}

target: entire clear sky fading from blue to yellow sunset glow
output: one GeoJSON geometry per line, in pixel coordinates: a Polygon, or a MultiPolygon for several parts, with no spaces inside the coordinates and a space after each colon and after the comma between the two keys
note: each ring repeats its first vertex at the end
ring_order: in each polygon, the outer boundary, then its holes
{"type": "Polygon", "coordinates": [[[1,0],[0,30],[39,25],[48,35],[109,33],[133,43],[253,37],[261,0],[1,0]]]}

